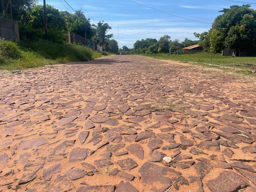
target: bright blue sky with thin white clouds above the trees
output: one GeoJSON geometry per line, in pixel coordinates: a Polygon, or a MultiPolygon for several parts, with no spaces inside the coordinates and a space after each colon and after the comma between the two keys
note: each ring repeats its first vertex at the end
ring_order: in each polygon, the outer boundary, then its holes
{"type": "MultiPolygon", "coordinates": [[[[219,15],[219,10],[228,8],[231,5],[242,5],[241,3],[225,2],[225,0],[134,0],[137,3],[163,10],[170,14],[197,20],[205,23],[212,23],[214,18],[219,15]]],[[[119,47],[123,45],[129,48],[138,39],[155,38],[159,39],[163,35],[171,36],[171,39],[189,38],[196,40],[194,32],[207,31],[211,25],[194,22],[172,15],[167,15],[128,0],[66,0],[74,9],[82,10],[86,17],[91,18],[91,23],[103,20],[108,23],[113,33],[113,39],[118,41],[119,27],[119,47]]],[[[250,0],[249,2],[255,2],[250,0]]],[[[43,0],[39,1],[43,4],[43,0]]],[[[47,4],[60,10],[73,12],[64,0],[46,0],[47,4]]],[[[256,9],[256,5],[252,6],[256,9]]]]}

